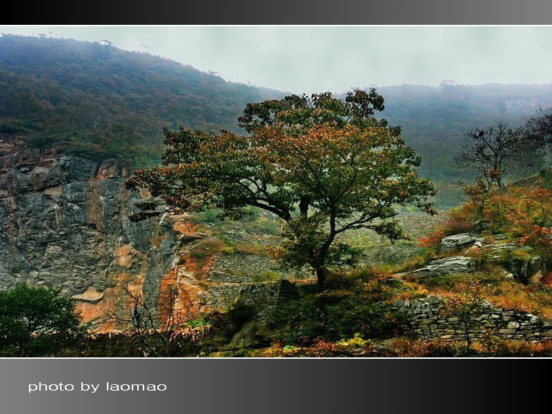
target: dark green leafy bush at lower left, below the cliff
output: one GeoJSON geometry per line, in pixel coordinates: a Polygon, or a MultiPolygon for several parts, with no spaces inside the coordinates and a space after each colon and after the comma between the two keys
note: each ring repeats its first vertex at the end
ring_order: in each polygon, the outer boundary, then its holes
{"type": "Polygon", "coordinates": [[[75,299],[57,288],[18,284],[0,292],[0,353],[52,355],[83,333],[75,299]]]}

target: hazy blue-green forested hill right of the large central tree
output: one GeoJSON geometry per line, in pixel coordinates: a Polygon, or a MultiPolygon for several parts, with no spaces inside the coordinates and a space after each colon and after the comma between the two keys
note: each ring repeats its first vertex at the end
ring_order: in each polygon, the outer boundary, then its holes
{"type": "Polygon", "coordinates": [[[473,128],[498,120],[523,124],[542,107],[552,106],[552,84],[488,83],[440,86],[404,84],[378,88],[386,100],[385,117],[402,126],[403,135],[424,157],[422,172],[437,181],[466,178],[452,157],[473,128]]]}

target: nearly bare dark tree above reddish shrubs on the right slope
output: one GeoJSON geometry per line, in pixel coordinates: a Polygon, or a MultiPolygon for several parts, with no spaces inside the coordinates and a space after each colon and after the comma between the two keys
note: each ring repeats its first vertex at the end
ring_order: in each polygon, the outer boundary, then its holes
{"type": "Polygon", "coordinates": [[[497,122],[495,126],[483,130],[469,131],[467,138],[469,144],[455,157],[456,163],[475,169],[489,187],[496,184],[502,190],[504,176],[520,155],[520,130],[513,130],[504,122],[497,122]]]}

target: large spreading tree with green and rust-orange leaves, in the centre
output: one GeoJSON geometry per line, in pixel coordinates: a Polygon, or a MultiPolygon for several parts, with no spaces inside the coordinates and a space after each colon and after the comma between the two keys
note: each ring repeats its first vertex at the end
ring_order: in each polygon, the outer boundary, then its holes
{"type": "Polygon", "coordinates": [[[399,239],[396,206],[434,213],[433,185],[417,174],[420,157],[400,127],[375,119],[383,109],[373,89],[345,99],[290,95],[249,103],[238,119],[248,136],[164,128],[163,166],[138,170],[126,183],[153,197],[134,219],[213,207],[221,218],[240,219],[247,206],[268,210],[284,223],[282,260],[310,265],[324,290],[328,266],[355,260],[342,233],[368,228],[399,239]]]}

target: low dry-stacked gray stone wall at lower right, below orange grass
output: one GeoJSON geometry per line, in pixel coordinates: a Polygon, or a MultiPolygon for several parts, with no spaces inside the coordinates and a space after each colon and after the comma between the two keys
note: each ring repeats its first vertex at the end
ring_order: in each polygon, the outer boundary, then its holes
{"type": "MultiPolygon", "coordinates": [[[[443,312],[445,304],[440,296],[428,296],[414,300],[397,300],[393,303],[393,308],[408,317],[413,331],[422,339],[464,339],[464,324],[457,317],[447,316],[443,312]]],[[[526,342],[552,339],[551,320],[531,313],[506,311],[486,301],[480,303],[480,312],[473,315],[469,325],[470,335],[475,339],[481,337],[485,328],[501,339],[526,342]]]]}

